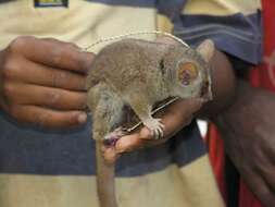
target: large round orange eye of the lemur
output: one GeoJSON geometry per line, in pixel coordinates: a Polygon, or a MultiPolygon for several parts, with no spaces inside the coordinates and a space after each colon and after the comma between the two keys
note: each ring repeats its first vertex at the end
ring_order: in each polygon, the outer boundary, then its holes
{"type": "Polygon", "coordinates": [[[177,78],[183,85],[189,85],[198,77],[198,68],[191,62],[179,63],[177,78]]]}

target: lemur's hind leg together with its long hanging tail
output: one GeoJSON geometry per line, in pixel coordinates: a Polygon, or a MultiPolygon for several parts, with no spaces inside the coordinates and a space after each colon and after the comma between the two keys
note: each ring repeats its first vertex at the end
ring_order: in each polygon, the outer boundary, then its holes
{"type": "Polygon", "coordinates": [[[101,207],[117,207],[114,186],[114,163],[102,155],[103,138],[120,122],[123,102],[107,85],[97,85],[88,92],[88,107],[92,113],[92,136],[96,139],[97,188],[101,207]]]}

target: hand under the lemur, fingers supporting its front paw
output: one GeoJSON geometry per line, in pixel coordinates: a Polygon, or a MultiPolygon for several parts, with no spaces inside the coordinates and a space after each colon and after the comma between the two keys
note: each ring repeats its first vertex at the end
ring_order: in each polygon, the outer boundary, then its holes
{"type": "MultiPolygon", "coordinates": [[[[121,137],[114,147],[103,146],[102,151],[104,159],[108,162],[114,162],[123,153],[133,151],[145,147],[155,146],[166,142],[175,133],[177,133],[185,125],[189,124],[193,114],[201,108],[202,99],[186,99],[178,100],[168,106],[163,114],[161,114],[161,122],[164,125],[164,137],[154,139],[151,131],[142,126],[129,135],[121,137]]],[[[157,113],[157,117],[158,113],[157,113]]]]}

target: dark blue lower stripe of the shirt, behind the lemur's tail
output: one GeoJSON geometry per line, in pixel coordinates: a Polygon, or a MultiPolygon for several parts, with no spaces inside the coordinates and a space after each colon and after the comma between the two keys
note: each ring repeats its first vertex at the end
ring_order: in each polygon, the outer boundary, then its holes
{"type": "MultiPolygon", "coordinates": [[[[26,174],[95,174],[95,142],[90,120],[75,130],[25,126],[0,112],[0,172],[26,174]]],[[[118,176],[154,172],[171,163],[184,166],[205,154],[196,123],[166,144],[125,154],[118,176]]]]}

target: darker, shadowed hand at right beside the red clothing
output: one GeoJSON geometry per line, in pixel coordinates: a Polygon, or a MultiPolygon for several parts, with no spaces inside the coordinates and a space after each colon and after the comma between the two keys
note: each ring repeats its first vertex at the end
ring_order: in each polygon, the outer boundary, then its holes
{"type": "Polygon", "coordinates": [[[275,94],[240,83],[236,102],[215,121],[241,178],[266,207],[275,205],[275,94]]]}

